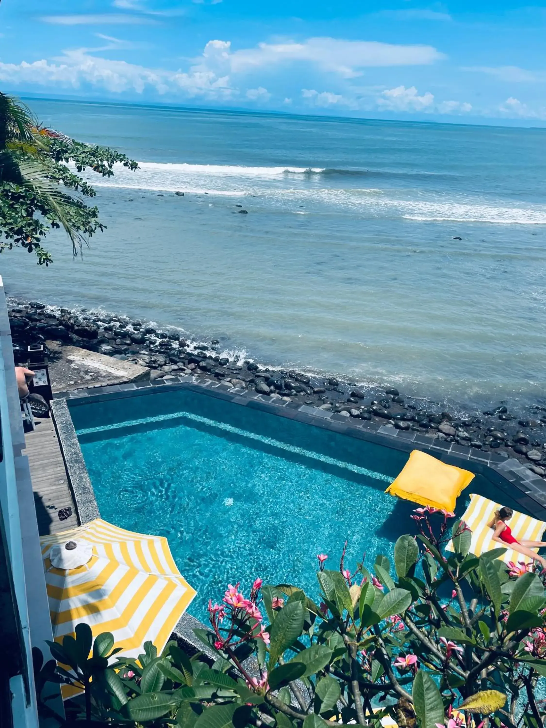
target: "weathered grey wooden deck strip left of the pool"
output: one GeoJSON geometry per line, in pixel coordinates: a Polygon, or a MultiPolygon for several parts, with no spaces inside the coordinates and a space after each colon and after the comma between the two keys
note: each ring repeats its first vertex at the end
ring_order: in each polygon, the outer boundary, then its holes
{"type": "Polygon", "coordinates": [[[36,419],[36,430],[25,433],[25,442],[40,536],[75,528],[76,507],[53,420],[36,419]],[[66,509],[71,515],[60,520],[66,509]]]}

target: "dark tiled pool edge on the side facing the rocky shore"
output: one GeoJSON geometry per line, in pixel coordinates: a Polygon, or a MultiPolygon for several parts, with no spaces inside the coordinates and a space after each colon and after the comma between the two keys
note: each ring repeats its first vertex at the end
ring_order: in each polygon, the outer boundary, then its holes
{"type": "MultiPolygon", "coordinates": [[[[524,510],[530,511],[535,517],[546,521],[546,483],[539,475],[535,475],[534,472],[516,459],[502,458],[493,452],[483,452],[456,443],[447,443],[445,440],[435,440],[431,436],[419,432],[397,430],[392,424],[367,422],[340,414],[333,414],[309,405],[285,402],[280,398],[271,399],[248,389],[237,389],[237,387],[231,387],[231,385],[213,379],[181,376],[168,381],[157,379],[153,382],[139,381],[136,384],[74,389],[68,392],[58,392],[58,394],[54,395],[54,401],[70,400],[71,406],[74,406],[78,403],[83,404],[88,397],[94,399],[96,397],[98,401],[122,399],[135,395],[151,395],[157,391],[166,391],[169,387],[173,389],[190,389],[192,392],[206,394],[288,419],[295,419],[298,422],[312,424],[314,427],[339,432],[387,448],[394,448],[407,453],[412,450],[427,452],[443,462],[467,468],[467,470],[472,470],[477,475],[483,475],[500,488],[502,486],[516,488],[518,491],[517,494],[514,494],[516,502],[524,510]]],[[[68,406],[66,406],[66,409],[68,411],[68,406]]],[[[70,416],[69,412],[68,416],[70,416]]],[[[74,427],[72,429],[74,430],[74,427]]],[[[78,507],[77,504],[76,507],[78,507]]]]}

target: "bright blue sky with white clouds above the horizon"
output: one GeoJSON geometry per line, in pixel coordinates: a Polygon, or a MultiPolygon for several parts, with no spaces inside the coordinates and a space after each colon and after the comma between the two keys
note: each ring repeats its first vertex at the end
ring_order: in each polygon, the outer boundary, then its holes
{"type": "Polygon", "coordinates": [[[545,31],[507,0],[3,0],[0,88],[545,126],[545,31]]]}

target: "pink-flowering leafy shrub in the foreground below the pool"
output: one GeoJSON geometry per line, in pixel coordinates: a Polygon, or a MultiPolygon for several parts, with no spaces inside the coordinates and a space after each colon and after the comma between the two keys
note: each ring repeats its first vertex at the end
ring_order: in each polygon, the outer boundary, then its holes
{"type": "Polygon", "coordinates": [[[350,571],[343,554],[326,569],[320,554],[317,601],[261,579],[248,596],[229,585],[209,603],[210,630],[195,630],[198,654],[147,643],[137,660],[118,659],[111,634],[92,644],[78,625],[51,645],[59,666],[36,652],[41,711],[52,715],[57,681],[84,689],[65,725],[541,728],[544,582],[531,565],[499,561],[502,549],[472,555],[465,524],[432,511],[416,511],[421,533],[397,540],[394,564],[379,555],[350,571]]]}

